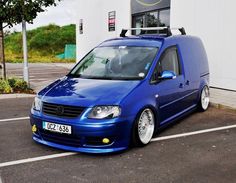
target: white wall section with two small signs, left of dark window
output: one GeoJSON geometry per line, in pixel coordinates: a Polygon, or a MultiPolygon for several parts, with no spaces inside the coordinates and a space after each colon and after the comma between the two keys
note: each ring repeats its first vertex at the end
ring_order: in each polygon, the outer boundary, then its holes
{"type": "Polygon", "coordinates": [[[102,41],[118,37],[122,28],[131,27],[130,0],[77,0],[77,61],[102,41]],[[116,31],[108,31],[108,12],[116,11],[116,31]],[[79,21],[83,19],[83,34],[79,21]]]}

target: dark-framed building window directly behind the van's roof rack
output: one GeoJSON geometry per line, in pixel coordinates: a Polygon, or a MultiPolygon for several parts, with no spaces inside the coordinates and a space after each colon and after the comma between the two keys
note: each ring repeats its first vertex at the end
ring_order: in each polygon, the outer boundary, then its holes
{"type": "MultiPolygon", "coordinates": [[[[170,9],[156,10],[133,15],[133,27],[166,27],[170,26],[170,9]]],[[[140,34],[140,30],[133,31],[133,34],[140,34]]],[[[148,31],[157,33],[157,31],[148,31]]]]}

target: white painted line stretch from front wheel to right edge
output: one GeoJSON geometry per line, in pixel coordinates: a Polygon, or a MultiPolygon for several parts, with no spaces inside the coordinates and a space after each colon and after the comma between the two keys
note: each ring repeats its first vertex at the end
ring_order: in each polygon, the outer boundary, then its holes
{"type": "Polygon", "coordinates": [[[198,130],[195,132],[181,133],[181,134],[169,135],[169,136],[164,136],[164,137],[157,137],[157,138],[153,138],[151,141],[155,142],[155,141],[161,141],[161,140],[168,140],[168,139],[174,139],[174,138],[179,138],[179,137],[186,137],[186,136],[191,136],[191,135],[198,135],[198,134],[203,134],[203,133],[215,132],[215,131],[220,131],[220,130],[227,130],[230,128],[236,128],[236,125],[210,128],[210,129],[206,129],[206,130],[198,130]]]}

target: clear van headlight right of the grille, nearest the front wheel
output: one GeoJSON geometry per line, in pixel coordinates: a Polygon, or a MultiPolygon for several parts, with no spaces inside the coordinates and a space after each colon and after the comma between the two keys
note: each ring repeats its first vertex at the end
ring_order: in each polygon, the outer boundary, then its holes
{"type": "Polygon", "coordinates": [[[94,107],[88,118],[90,119],[111,119],[120,116],[121,109],[119,106],[96,106],[94,107]]]}

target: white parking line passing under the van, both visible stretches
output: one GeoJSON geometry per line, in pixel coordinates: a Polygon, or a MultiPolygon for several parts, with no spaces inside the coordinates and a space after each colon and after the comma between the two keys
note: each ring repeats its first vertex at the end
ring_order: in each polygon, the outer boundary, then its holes
{"type": "MultiPolygon", "coordinates": [[[[236,125],[210,128],[210,129],[206,129],[206,130],[198,130],[198,131],[195,131],[195,132],[188,132],[188,133],[158,137],[158,138],[153,138],[151,141],[152,142],[161,141],[161,140],[167,140],[167,139],[197,135],[197,134],[202,134],[202,133],[208,133],[208,132],[214,132],[214,131],[220,131],[220,130],[227,130],[227,129],[230,129],[230,128],[236,128],[236,125]]],[[[31,163],[31,162],[35,162],[35,161],[42,161],[42,160],[47,160],[47,159],[60,158],[60,157],[65,157],[65,156],[72,156],[72,155],[76,155],[76,154],[78,154],[78,153],[76,153],[76,152],[66,152],[66,153],[39,156],[39,157],[35,157],[35,158],[28,158],[28,159],[22,159],[22,160],[16,160],[16,161],[9,161],[9,162],[5,162],[5,163],[0,163],[0,168],[1,167],[12,166],[12,165],[24,164],[24,163],[31,163]]]]}

